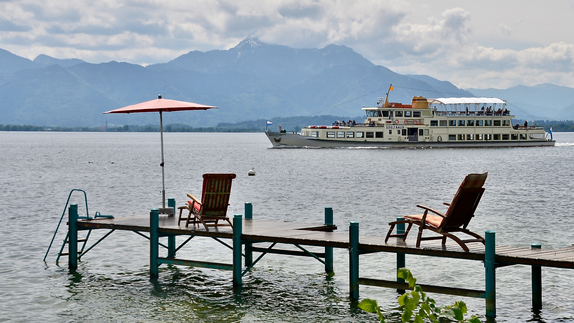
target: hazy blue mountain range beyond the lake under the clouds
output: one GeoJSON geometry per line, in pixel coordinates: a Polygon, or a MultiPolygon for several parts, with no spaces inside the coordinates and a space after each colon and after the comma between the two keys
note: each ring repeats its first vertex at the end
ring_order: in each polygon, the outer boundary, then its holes
{"type": "Polygon", "coordinates": [[[228,50],[192,51],[167,63],[90,64],[40,55],[29,60],[0,49],[0,124],[100,126],[157,124],[153,113],[102,112],[157,98],[219,109],[165,114],[164,123],[194,127],[298,115],[362,115],[390,84],[389,101],[496,96],[518,118],[572,119],[574,88],[553,84],[460,89],[426,75],[401,75],[343,45],[294,49],[251,38],[228,50]],[[523,112],[522,112],[523,111],[523,112]]]}

